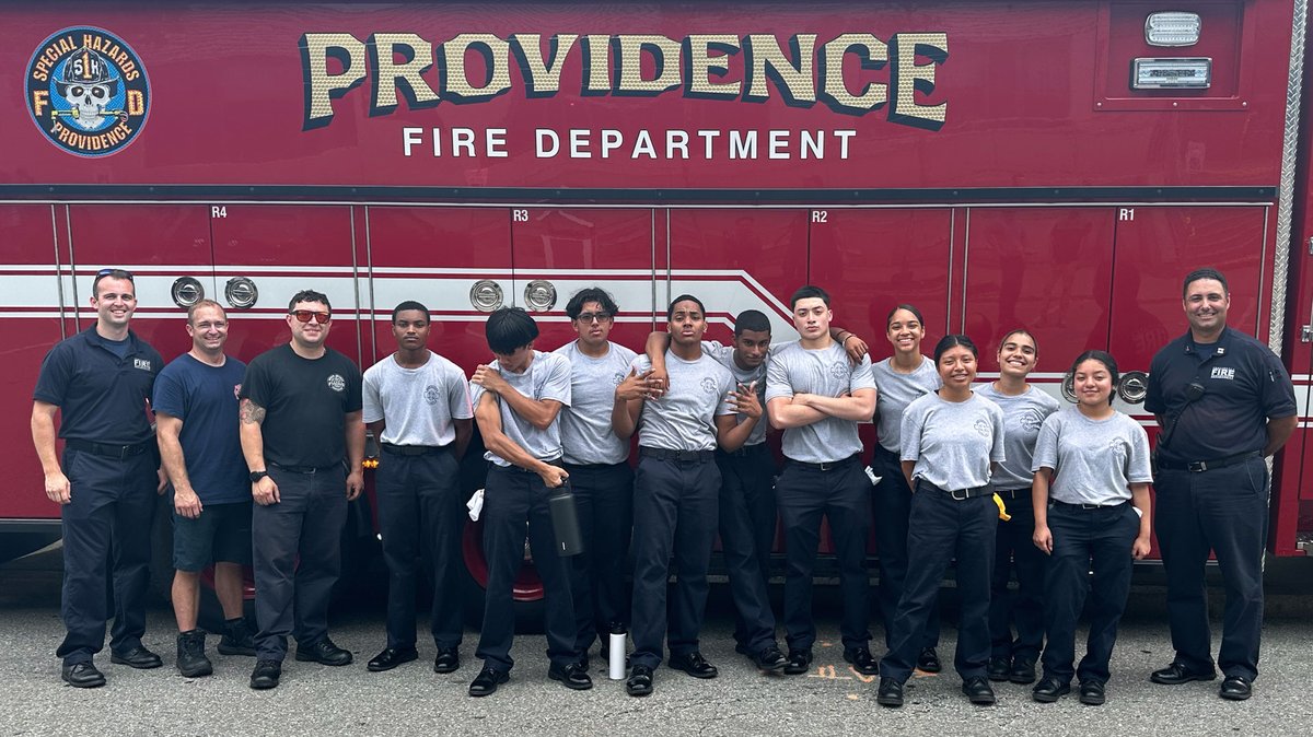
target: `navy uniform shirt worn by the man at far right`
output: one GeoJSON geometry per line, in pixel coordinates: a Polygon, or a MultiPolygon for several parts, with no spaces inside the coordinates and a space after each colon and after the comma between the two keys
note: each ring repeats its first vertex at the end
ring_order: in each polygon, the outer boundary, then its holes
{"type": "MultiPolygon", "coordinates": [[[[1167,460],[1190,463],[1262,451],[1267,420],[1295,414],[1295,386],[1281,361],[1266,345],[1230,328],[1216,344],[1195,344],[1191,334],[1171,341],[1153,357],[1145,409],[1169,424],[1167,460]],[[1204,392],[1187,404],[1187,387],[1204,392]]],[[[1161,435],[1159,435],[1161,438],[1161,435]]]]}

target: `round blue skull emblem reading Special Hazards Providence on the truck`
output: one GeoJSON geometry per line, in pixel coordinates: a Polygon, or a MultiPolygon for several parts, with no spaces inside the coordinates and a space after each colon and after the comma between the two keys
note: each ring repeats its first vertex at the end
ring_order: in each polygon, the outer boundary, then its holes
{"type": "Polygon", "coordinates": [[[68,28],[28,63],[28,113],[49,142],[77,156],[122,151],[146,125],[150,83],[140,58],[118,37],[68,28]]]}

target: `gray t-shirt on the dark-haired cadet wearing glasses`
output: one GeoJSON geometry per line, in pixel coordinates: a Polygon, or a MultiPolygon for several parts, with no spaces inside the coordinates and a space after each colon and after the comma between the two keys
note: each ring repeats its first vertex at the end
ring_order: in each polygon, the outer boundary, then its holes
{"type": "Polygon", "coordinates": [[[579,350],[579,341],[553,351],[570,362],[571,401],[561,410],[561,447],[566,463],[614,464],[629,458],[629,441],[616,437],[611,410],[616,404],[616,387],[629,374],[634,351],[613,342],[608,346],[607,354],[599,358],[579,350]]]}

